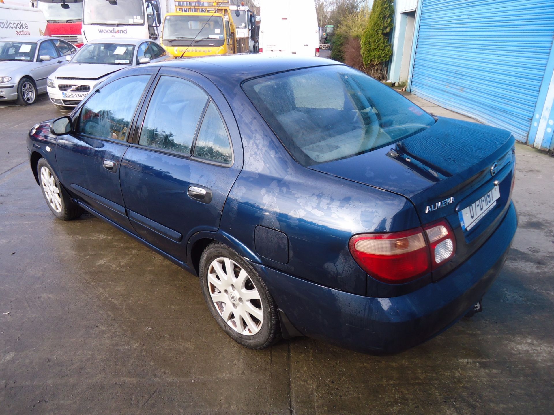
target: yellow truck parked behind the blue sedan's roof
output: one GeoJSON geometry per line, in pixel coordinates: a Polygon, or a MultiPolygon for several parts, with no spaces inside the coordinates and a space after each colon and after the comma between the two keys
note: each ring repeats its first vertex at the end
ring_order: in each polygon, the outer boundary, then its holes
{"type": "Polygon", "coordinates": [[[242,51],[229,2],[176,0],[175,10],[166,14],[161,36],[162,45],[171,55],[179,58],[242,51]]]}

